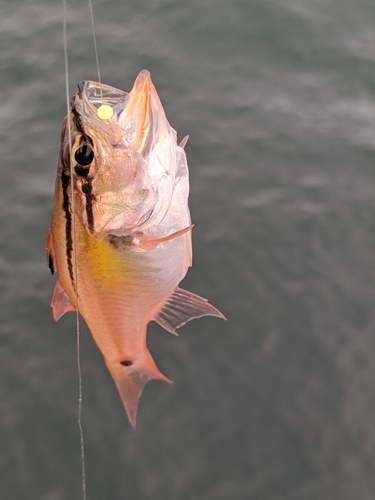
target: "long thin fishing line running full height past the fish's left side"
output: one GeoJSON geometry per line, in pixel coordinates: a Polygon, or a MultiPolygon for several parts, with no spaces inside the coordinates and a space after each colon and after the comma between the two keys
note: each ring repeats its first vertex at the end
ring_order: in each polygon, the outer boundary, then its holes
{"type": "MultiPolygon", "coordinates": [[[[74,281],[76,285],[76,333],[77,333],[77,370],[78,370],[78,428],[81,445],[81,470],[82,470],[82,497],[86,500],[86,464],[85,464],[85,441],[82,428],[82,370],[81,370],[81,332],[79,324],[78,312],[78,267],[77,267],[77,238],[76,238],[76,218],[75,218],[75,203],[74,203],[74,183],[73,183],[73,159],[72,159],[72,144],[71,144],[71,123],[70,123],[70,99],[69,99],[69,67],[68,67],[68,42],[66,36],[67,24],[67,9],[66,0],[63,1],[63,43],[64,43],[64,62],[65,62],[65,91],[66,91],[66,119],[69,138],[69,162],[70,162],[70,188],[71,188],[71,206],[73,219],[73,258],[74,258],[74,281]]],[[[91,2],[90,2],[91,3],[91,2]]]]}

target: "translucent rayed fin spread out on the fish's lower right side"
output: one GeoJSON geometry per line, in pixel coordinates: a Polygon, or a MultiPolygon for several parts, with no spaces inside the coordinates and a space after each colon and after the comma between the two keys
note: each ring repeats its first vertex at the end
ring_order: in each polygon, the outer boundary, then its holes
{"type": "Polygon", "coordinates": [[[154,321],[168,332],[177,335],[176,328],[202,316],[216,316],[226,319],[216,307],[209,304],[203,297],[177,287],[155,316],[154,321]]]}

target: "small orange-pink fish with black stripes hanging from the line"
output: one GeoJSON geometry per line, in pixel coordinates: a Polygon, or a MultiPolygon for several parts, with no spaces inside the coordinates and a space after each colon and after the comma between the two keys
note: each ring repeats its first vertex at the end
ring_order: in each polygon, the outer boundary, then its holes
{"type": "Polygon", "coordinates": [[[186,140],[177,144],[147,70],[129,93],[80,82],[63,121],[46,242],[52,314],[78,309],[133,427],[145,385],[171,383],[148,350],[148,323],[177,334],[194,318],[225,319],[178,287],[192,265],[186,140]]]}

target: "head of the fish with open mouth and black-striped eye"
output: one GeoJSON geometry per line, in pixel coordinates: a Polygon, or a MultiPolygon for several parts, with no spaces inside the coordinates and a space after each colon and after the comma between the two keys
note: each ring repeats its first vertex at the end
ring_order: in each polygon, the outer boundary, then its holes
{"type": "MultiPolygon", "coordinates": [[[[79,84],[72,99],[70,137],[75,211],[97,240],[127,236],[158,225],[171,203],[176,132],[143,70],[131,92],[92,81],[79,84]],[[100,107],[112,116],[100,118],[100,107]]],[[[69,163],[69,162],[67,162],[69,163]]]]}

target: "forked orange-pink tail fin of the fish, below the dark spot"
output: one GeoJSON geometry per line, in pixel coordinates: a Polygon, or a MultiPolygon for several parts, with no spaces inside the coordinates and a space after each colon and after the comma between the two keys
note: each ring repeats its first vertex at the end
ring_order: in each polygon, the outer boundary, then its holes
{"type": "Polygon", "coordinates": [[[172,382],[159,371],[148,350],[140,359],[124,360],[120,363],[106,360],[106,365],[116,384],[129,422],[135,428],[139,399],[147,382],[172,382]]]}

